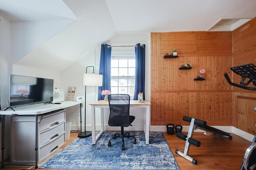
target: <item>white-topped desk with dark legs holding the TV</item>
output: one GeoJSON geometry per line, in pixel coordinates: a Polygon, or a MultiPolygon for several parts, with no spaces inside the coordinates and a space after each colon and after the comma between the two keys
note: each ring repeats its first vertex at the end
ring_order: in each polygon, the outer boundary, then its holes
{"type": "MultiPolygon", "coordinates": [[[[38,116],[43,115],[44,113],[48,113],[51,111],[56,111],[59,109],[64,109],[67,107],[75,106],[80,104],[80,114],[81,114],[81,107],[82,102],[74,102],[74,101],[64,101],[61,104],[34,104],[34,105],[27,105],[27,106],[20,106],[20,107],[13,107],[13,110],[8,109],[6,111],[0,111],[1,121],[2,121],[2,164],[1,168],[4,168],[4,127],[5,127],[5,116],[6,115],[35,115],[36,120],[38,120],[38,116]]],[[[38,122],[36,121],[36,143],[35,143],[35,166],[38,168],[38,122]]]]}

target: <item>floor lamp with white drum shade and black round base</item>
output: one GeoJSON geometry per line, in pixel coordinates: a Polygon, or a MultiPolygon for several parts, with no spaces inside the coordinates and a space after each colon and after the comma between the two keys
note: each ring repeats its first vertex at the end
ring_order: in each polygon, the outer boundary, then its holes
{"type": "Polygon", "coordinates": [[[85,138],[92,135],[92,131],[86,131],[86,86],[102,86],[102,75],[94,74],[94,66],[86,67],[86,74],[84,74],[85,98],[84,98],[84,132],[82,132],[82,113],[80,112],[81,132],[78,137],[85,138]],[[92,74],[87,74],[87,68],[92,67],[92,74]]]}

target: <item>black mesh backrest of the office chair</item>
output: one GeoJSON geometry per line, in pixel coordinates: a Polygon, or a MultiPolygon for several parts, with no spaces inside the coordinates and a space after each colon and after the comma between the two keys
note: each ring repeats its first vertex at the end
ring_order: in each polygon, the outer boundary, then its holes
{"type": "Polygon", "coordinates": [[[130,96],[128,94],[108,95],[110,114],[108,124],[110,126],[130,125],[130,96]]]}

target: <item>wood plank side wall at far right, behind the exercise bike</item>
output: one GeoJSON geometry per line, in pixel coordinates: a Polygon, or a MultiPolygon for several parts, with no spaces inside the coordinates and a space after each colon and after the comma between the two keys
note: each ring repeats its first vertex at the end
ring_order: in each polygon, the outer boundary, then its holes
{"type": "MultiPolygon", "coordinates": [[[[256,18],[233,31],[233,53],[234,66],[248,63],[256,65],[256,18]]],[[[241,76],[234,74],[233,77],[233,82],[241,81],[241,76]]],[[[252,83],[249,86],[255,87],[252,83]]],[[[253,109],[256,106],[256,91],[237,87],[233,89],[233,111],[237,113],[237,124],[233,126],[255,135],[256,111],[253,109]]]]}

